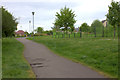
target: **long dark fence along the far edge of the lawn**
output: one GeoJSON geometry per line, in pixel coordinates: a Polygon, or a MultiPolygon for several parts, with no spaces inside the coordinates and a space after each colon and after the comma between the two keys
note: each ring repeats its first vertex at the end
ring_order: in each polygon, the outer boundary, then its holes
{"type": "MultiPolygon", "coordinates": [[[[94,32],[53,32],[53,38],[93,38],[93,37],[114,37],[113,27],[104,27],[103,29],[96,29],[94,32]]],[[[118,29],[115,29],[115,37],[118,37],[118,29]]]]}

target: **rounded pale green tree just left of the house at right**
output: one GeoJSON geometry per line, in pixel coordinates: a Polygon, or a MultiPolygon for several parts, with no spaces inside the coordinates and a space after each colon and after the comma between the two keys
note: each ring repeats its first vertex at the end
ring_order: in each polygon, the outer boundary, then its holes
{"type": "Polygon", "coordinates": [[[91,24],[91,31],[95,34],[96,36],[102,36],[103,35],[103,24],[99,20],[94,20],[93,23],[91,24]]]}

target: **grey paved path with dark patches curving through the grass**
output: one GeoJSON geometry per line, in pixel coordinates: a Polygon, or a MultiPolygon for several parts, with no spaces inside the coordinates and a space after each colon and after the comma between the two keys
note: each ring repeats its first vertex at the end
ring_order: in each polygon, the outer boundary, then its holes
{"type": "Polygon", "coordinates": [[[37,78],[104,78],[96,71],[52,53],[42,44],[17,38],[25,46],[24,56],[37,78]]]}

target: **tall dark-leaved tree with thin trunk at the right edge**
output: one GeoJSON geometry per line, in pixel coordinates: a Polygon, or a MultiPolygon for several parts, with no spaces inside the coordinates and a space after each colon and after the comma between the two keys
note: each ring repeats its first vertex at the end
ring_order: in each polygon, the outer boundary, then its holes
{"type": "Polygon", "coordinates": [[[115,38],[115,26],[120,27],[120,3],[112,0],[111,5],[108,6],[109,11],[107,14],[108,22],[114,27],[114,38],[115,38]]]}

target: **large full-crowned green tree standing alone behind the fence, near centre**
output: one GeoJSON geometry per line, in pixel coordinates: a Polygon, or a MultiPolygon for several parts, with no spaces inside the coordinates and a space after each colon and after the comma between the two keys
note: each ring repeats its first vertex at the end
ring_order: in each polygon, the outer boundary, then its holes
{"type": "Polygon", "coordinates": [[[74,18],[74,12],[65,6],[60,10],[60,13],[56,12],[54,25],[58,28],[64,27],[64,30],[67,32],[68,27],[73,29],[73,26],[76,23],[76,20],[74,18]]]}

